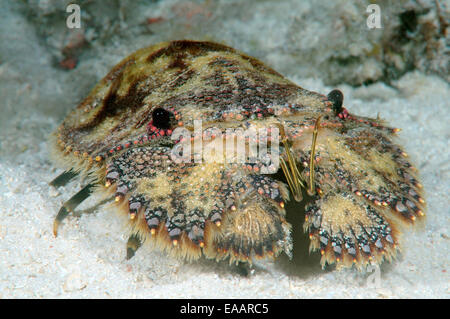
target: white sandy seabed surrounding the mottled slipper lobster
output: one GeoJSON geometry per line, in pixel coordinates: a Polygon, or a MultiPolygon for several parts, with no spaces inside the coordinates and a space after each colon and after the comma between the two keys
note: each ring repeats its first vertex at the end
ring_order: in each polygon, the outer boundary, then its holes
{"type": "MultiPolygon", "coordinates": [[[[31,32],[17,17],[8,19],[15,36],[31,32]]],[[[322,270],[301,231],[293,261],[260,262],[249,277],[226,263],[185,263],[145,247],[126,261],[122,224],[103,208],[67,218],[55,238],[53,219],[80,185],[48,186],[61,170],[49,161],[46,138],[95,83],[80,87],[71,76],[89,76],[98,60],[80,64],[72,75],[55,71],[37,41],[11,45],[10,54],[0,58],[0,298],[449,298],[450,90],[442,79],[412,72],[395,89],[338,86],[350,112],[379,113],[402,128],[400,143],[426,191],[424,229],[405,233],[403,253],[381,267],[373,287],[368,273],[322,270]]],[[[96,70],[104,74],[107,67],[96,70]]],[[[317,79],[291,79],[322,93],[333,89],[317,79]]]]}

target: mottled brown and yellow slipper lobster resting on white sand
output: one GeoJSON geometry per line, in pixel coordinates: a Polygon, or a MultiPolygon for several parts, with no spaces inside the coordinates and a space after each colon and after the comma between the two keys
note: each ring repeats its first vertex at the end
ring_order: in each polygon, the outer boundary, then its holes
{"type": "MultiPolygon", "coordinates": [[[[203,130],[222,132],[280,128],[280,159],[297,172],[292,179],[311,188],[304,230],[322,265],[391,260],[402,227],[424,215],[421,185],[392,142],[398,130],[349,113],[342,100],[337,90],[327,96],[305,90],[222,44],[183,40],[141,49],[115,66],[53,135],[55,159],[66,169],[53,184],[77,173],[89,183],[61,208],[55,234],[95,190],[109,194],[127,217],[132,251],[148,242],[188,260],[251,263],[290,255],[284,204],[292,187],[276,179],[283,174],[262,174],[261,160],[172,159],[174,130],[193,131],[201,120],[203,130]]],[[[203,146],[223,138],[208,137],[203,146]]],[[[292,197],[300,211],[301,194],[292,197]]]]}

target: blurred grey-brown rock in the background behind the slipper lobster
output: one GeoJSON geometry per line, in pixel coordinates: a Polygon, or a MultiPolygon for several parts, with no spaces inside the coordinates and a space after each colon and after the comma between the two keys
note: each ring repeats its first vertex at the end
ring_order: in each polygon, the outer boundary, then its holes
{"type": "Polygon", "coordinates": [[[257,56],[281,73],[302,72],[325,84],[390,82],[419,69],[449,79],[448,1],[78,1],[82,28],[65,27],[73,1],[18,1],[60,67],[111,46],[124,53],[173,39],[213,40],[257,56]],[[369,29],[371,3],[381,29],[369,29]],[[73,59],[73,61],[71,61],[73,59]]]}

